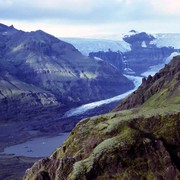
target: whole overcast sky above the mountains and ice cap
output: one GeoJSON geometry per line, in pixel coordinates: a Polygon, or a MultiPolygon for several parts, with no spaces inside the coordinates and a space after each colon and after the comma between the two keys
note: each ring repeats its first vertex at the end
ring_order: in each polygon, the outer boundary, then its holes
{"type": "Polygon", "coordinates": [[[0,22],[58,37],[180,33],[180,0],[0,0],[0,22]]]}

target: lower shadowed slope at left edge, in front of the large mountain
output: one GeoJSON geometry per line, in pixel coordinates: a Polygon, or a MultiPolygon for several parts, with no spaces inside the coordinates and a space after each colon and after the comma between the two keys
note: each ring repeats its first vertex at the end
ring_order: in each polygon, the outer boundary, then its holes
{"type": "Polygon", "coordinates": [[[0,85],[1,124],[47,118],[48,112],[52,118],[60,109],[61,104],[53,94],[19,81],[7,72],[0,72],[0,85]]]}

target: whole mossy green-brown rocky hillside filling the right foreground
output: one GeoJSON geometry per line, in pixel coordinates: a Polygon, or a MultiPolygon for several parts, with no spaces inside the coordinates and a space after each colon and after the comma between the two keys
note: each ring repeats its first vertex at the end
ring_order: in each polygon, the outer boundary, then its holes
{"type": "MultiPolygon", "coordinates": [[[[49,158],[26,171],[24,179],[179,179],[179,65],[180,58],[174,58],[151,84],[156,87],[159,79],[173,82],[159,84],[156,91],[169,88],[160,100],[167,100],[164,106],[152,106],[154,93],[146,105],[82,120],[49,158]]],[[[136,91],[144,95],[140,89],[147,89],[144,83],[136,91]]]]}

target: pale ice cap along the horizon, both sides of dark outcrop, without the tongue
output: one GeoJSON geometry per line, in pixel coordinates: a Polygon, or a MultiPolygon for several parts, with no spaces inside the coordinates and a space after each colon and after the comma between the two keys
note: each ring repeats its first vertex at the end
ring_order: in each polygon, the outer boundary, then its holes
{"type": "MultiPolygon", "coordinates": [[[[120,51],[127,52],[131,50],[130,44],[123,40],[123,37],[132,36],[138,34],[138,32],[129,32],[126,34],[120,34],[117,36],[109,36],[107,39],[91,39],[91,38],[65,38],[61,37],[60,39],[72,44],[76,49],[78,49],[83,55],[88,56],[90,52],[98,51],[120,51]]],[[[174,47],[175,49],[180,49],[180,33],[158,33],[158,34],[149,34],[154,36],[154,40],[150,44],[156,45],[157,47],[174,47]]],[[[101,38],[101,37],[99,37],[101,38]]],[[[146,43],[142,43],[142,47],[147,47],[146,43]]]]}

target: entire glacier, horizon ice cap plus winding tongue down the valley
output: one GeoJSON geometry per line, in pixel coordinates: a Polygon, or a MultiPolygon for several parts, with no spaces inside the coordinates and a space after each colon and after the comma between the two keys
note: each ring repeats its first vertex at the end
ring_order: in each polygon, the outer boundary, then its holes
{"type": "MultiPolygon", "coordinates": [[[[137,34],[137,32],[129,32],[129,34],[121,36],[121,38],[117,38],[116,40],[107,40],[107,39],[88,39],[88,38],[61,38],[68,43],[73,44],[82,54],[88,56],[90,52],[98,52],[98,51],[120,51],[120,52],[127,52],[131,50],[130,44],[123,41],[123,37],[131,36],[137,34]],[[111,47],[111,48],[110,48],[111,47]]],[[[133,76],[133,75],[124,75],[128,79],[130,79],[134,83],[134,89],[120,94],[118,96],[92,102],[89,104],[85,104],[76,108],[72,108],[64,114],[64,117],[71,117],[71,116],[78,116],[84,114],[85,112],[95,108],[102,106],[103,104],[109,104],[111,102],[120,101],[135,91],[142,82],[142,77],[148,77],[149,75],[154,75],[158,72],[161,68],[164,67],[164,64],[170,62],[170,60],[176,56],[180,55],[180,33],[176,34],[151,34],[155,37],[154,40],[151,41],[150,44],[154,44],[157,47],[174,47],[175,52],[173,52],[167,59],[164,59],[164,63],[150,66],[149,70],[142,73],[140,76],[133,76]]],[[[142,43],[142,47],[146,47],[147,45],[145,42],[142,43]]],[[[96,60],[101,60],[99,58],[95,58],[96,60]]]]}

